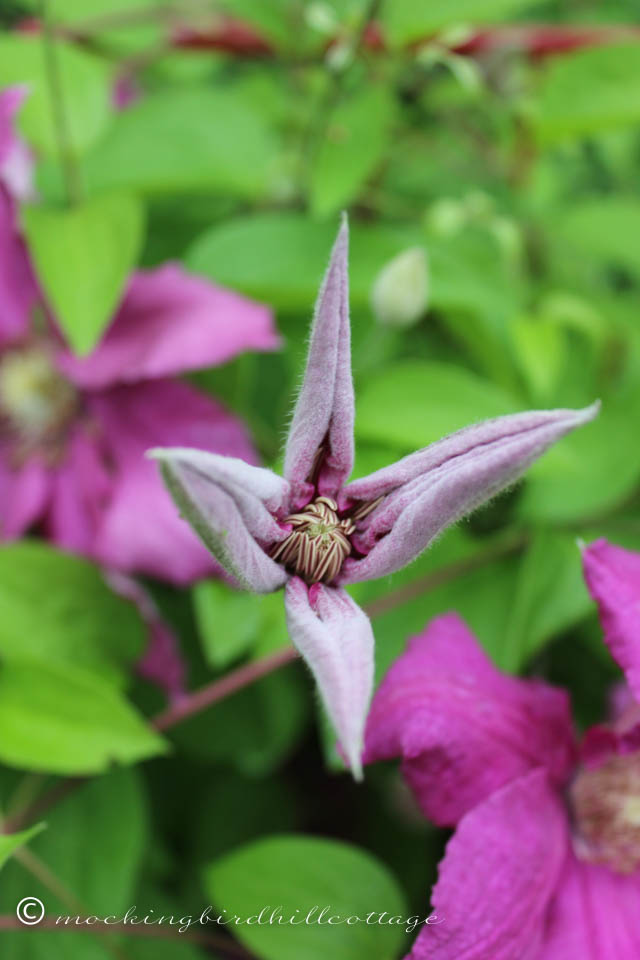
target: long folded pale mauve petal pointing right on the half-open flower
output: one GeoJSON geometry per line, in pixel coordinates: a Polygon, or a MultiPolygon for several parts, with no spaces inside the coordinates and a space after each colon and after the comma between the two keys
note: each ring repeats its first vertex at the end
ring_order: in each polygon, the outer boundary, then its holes
{"type": "Polygon", "coordinates": [[[384,500],[351,538],[363,559],[345,561],[340,583],[394,573],[450,524],[514,483],[534,460],[599,410],[511,414],[466,427],[344,488],[344,509],[384,500]]]}

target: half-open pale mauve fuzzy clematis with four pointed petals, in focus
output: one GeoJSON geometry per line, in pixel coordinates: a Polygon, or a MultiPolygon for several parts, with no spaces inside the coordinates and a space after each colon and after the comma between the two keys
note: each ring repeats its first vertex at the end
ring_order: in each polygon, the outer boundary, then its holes
{"type": "Polygon", "coordinates": [[[373,634],[344,587],[410,563],[598,408],[487,421],[347,483],[354,423],[347,246],[345,219],[316,305],[284,477],[186,448],[151,456],[185,518],[238,585],[256,592],[286,587],[291,639],[358,777],[373,634]]]}

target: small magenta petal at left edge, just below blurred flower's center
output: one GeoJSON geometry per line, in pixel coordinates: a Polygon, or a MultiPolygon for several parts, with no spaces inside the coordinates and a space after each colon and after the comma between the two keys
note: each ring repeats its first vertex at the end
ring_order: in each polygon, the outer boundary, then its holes
{"type": "Polygon", "coordinates": [[[0,449],[0,538],[19,537],[40,519],[49,498],[51,481],[44,464],[31,458],[12,463],[10,447],[0,449]]]}

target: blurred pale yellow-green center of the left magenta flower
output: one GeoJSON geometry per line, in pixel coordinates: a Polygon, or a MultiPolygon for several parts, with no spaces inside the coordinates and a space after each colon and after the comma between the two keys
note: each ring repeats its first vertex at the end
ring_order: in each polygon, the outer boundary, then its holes
{"type": "Polygon", "coordinates": [[[45,349],[10,350],[0,359],[0,413],[25,447],[58,439],[76,402],[45,349]]]}

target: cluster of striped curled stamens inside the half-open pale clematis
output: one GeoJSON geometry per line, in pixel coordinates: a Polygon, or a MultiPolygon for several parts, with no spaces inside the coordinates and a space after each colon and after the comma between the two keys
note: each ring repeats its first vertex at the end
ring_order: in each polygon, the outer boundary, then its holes
{"type": "Polygon", "coordinates": [[[351,553],[349,535],[353,520],[340,520],[338,505],[329,497],[318,497],[300,513],[285,518],[293,530],[277,543],[271,558],[298,574],[308,584],[330,583],[351,553]]]}

